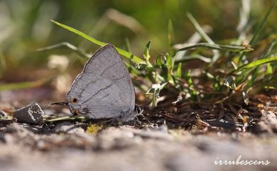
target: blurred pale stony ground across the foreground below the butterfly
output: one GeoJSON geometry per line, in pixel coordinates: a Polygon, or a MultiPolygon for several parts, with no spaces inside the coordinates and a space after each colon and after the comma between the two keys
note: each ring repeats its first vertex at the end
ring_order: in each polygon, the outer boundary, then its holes
{"type": "MultiPolygon", "coordinates": [[[[65,129],[62,129],[65,128],[65,129]]],[[[12,123],[0,129],[0,170],[277,170],[273,133],[192,134],[189,131],[131,126],[109,127],[92,135],[72,123],[63,133],[12,123]],[[71,126],[71,127],[70,127],[71,126]],[[214,165],[214,160],[268,160],[269,165],[214,165]]],[[[60,132],[58,130],[58,132],[60,132]]],[[[56,130],[57,131],[57,130],[56,130]]]]}

